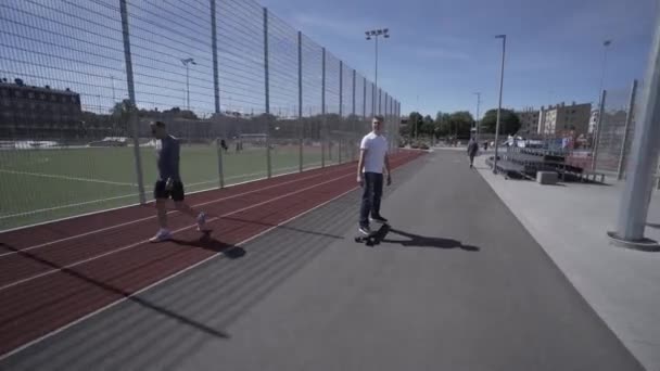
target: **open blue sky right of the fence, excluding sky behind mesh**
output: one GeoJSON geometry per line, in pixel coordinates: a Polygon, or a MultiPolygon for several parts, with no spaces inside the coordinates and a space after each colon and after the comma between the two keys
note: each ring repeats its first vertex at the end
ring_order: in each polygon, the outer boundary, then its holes
{"type": "Polygon", "coordinates": [[[504,105],[591,102],[598,95],[602,41],[612,39],[605,87],[642,78],[651,41],[653,0],[261,0],[281,18],[373,77],[364,30],[389,27],[379,82],[402,112],[497,105],[500,42],[507,34],[504,105]],[[419,104],[417,97],[419,95],[419,104]]]}

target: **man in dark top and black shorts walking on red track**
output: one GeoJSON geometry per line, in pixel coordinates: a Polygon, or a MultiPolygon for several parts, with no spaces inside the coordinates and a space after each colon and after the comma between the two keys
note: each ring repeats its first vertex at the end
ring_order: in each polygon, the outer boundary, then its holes
{"type": "Polygon", "coordinates": [[[198,230],[204,231],[206,215],[204,212],[195,213],[183,202],[183,183],[179,176],[179,141],[167,133],[163,121],[151,123],[151,133],[156,138],[156,157],[158,165],[158,179],[154,186],[153,195],[156,199],[158,226],[161,229],[149,241],[163,242],[172,238],[167,229],[167,202],[172,197],[175,208],[196,219],[198,230]]]}

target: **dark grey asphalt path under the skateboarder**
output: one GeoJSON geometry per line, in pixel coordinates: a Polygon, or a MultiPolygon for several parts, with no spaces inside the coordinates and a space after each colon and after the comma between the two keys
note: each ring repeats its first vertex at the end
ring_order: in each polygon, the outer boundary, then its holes
{"type": "Polygon", "coordinates": [[[394,181],[379,246],[353,192],[0,368],[642,370],[464,153],[394,181]]]}

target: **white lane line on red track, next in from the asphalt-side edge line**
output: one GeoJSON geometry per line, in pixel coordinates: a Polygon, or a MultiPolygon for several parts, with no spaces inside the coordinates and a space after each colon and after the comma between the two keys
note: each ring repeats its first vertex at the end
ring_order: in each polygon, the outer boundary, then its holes
{"type": "MultiPolygon", "coordinates": [[[[251,208],[255,208],[255,207],[258,207],[258,206],[263,206],[263,205],[269,204],[269,203],[271,203],[271,202],[274,202],[274,201],[278,201],[278,200],[281,200],[281,199],[285,199],[285,197],[289,197],[289,196],[291,196],[291,195],[299,194],[299,193],[301,193],[301,192],[305,192],[305,191],[308,191],[308,190],[312,190],[312,189],[315,189],[315,188],[318,188],[318,187],[321,187],[321,186],[325,186],[325,184],[328,184],[328,183],[332,183],[332,182],[335,182],[335,181],[338,181],[338,180],[341,180],[341,179],[344,179],[344,178],[346,178],[346,177],[351,177],[351,176],[353,176],[353,172],[347,174],[347,175],[344,175],[344,176],[341,176],[341,177],[338,177],[338,178],[334,178],[334,179],[331,179],[331,180],[327,180],[327,181],[323,181],[323,182],[320,182],[320,183],[316,183],[316,184],[314,184],[314,186],[310,186],[310,187],[306,187],[306,188],[300,189],[300,190],[297,190],[297,191],[289,192],[289,193],[285,193],[285,194],[282,194],[282,195],[279,195],[279,196],[276,196],[276,197],[272,197],[272,199],[270,199],[270,200],[267,200],[267,201],[263,201],[263,202],[256,203],[256,204],[254,204],[254,205],[245,206],[245,207],[240,208],[240,209],[238,209],[238,210],[233,210],[233,212],[230,212],[230,213],[226,213],[226,214],[223,214],[223,215],[217,216],[217,217],[208,218],[207,222],[214,222],[214,221],[216,221],[216,220],[218,220],[218,219],[226,218],[226,217],[228,217],[228,216],[231,216],[231,215],[234,215],[234,214],[239,214],[239,213],[242,213],[242,212],[249,210],[249,209],[251,209],[251,208]]],[[[196,227],[196,226],[198,226],[198,225],[196,225],[196,223],[194,223],[194,225],[190,225],[190,226],[187,226],[187,227],[182,227],[182,228],[176,229],[176,230],[172,231],[172,234],[176,234],[176,233],[179,233],[179,232],[182,232],[182,231],[189,230],[189,229],[191,229],[191,228],[193,228],[193,227],[196,227]]],[[[12,283],[4,284],[4,285],[0,286],[0,291],[4,291],[4,290],[8,290],[8,289],[11,289],[11,287],[17,286],[17,285],[20,285],[20,284],[23,284],[23,283],[27,283],[27,282],[34,281],[34,280],[39,279],[39,278],[42,278],[42,277],[51,276],[51,274],[54,274],[54,273],[61,272],[61,271],[63,271],[63,270],[65,270],[65,269],[71,269],[71,268],[74,268],[74,267],[77,267],[77,266],[84,265],[84,264],[86,264],[86,263],[90,263],[90,261],[93,261],[93,260],[98,260],[98,259],[100,259],[100,258],[103,258],[103,257],[106,257],[106,256],[110,256],[110,255],[113,255],[113,254],[117,254],[117,253],[120,253],[120,252],[123,252],[123,251],[127,251],[127,250],[130,250],[130,248],[135,248],[135,247],[137,247],[137,246],[140,246],[140,245],[143,245],[143,244],[147,244],[147,243],[149,243],[149,239],[147,239],[147,240],[142,240],[142,241],[138,241],[138,242],[136,242],[136,243],[131,243],[131,244],[129,244],[129,245],[125,245],[125,246],[122,246],[122,247],[118,247],[118,248],[115,248],[115,250],[111,250],[111,251],[105,252],[105,253],[103,253],[103,254],[99,254],[99,255],[96,255],[96,256],[92,256],[92,257],[89,257],[89,258],[86,258],[86,259],[82,259],[82,260],[78,260],[78,261],[76,261],[76,263],[72,263],[72,264],[68,264],[68,265],[66,265],[66,266],[60,267],[60,268],[58,268],[58,269],[51,269],[51,270],[47,270],[47,271],[41,272],[41,273],[39,273],[39,274],[30,276],[30,277],[27,277],[27,278],[24,278],[24,279],[21,279],[21,280],[14,281],[14,282],[12,282],[12,283]]]]}

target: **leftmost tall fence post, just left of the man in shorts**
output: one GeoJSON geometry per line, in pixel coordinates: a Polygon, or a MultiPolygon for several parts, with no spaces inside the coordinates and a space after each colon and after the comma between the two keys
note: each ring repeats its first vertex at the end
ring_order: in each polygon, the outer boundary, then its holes
{"type": "Polygon", "coordinates": [[[126,0],[119,0],[122,13],[122,35],[124,39],[124,60],[126,63],[126,85],[128,87],[128,99],[130,101],[128,121],[132,128],[132,146],[136,161],[136,175],[138,180],[138,199],[140,204],[147,203],[144,195],[144,180],[142,179],[142,161],[140,158],[140,127],[136,105],[136,89],[132,79],[132,60],[130,54],[130,36],[128,29],[128,10],[126,0]]]}

